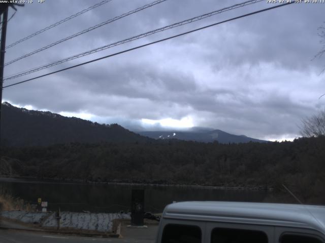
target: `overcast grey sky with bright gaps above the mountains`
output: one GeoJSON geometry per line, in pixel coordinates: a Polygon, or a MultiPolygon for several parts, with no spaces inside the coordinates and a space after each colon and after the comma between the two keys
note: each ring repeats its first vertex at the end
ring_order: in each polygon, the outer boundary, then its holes
{"type": "MultiPolygon", "coordinates": [[[[293,0],[292,0],[293,1],[293,0]]],[[[18,8],[7,46],[101,1],[45,0],[18,8]]],[[[6,50],[6,61],[152,1],[112,0],[6,50]]],[[[5,67],[5,77],[242,1],[168,0],[5,67]]],[[[266,1],[101,51],[4,85],[275,6],[266,1]]],[[[319,30],[325,4],[291,4],[6,88],[3,101],[130,130],[208,127],[270,140],[299,136],[325,107],[319,30]]],[[[13,14],[9,11],[9,17],[13,14]]]]}

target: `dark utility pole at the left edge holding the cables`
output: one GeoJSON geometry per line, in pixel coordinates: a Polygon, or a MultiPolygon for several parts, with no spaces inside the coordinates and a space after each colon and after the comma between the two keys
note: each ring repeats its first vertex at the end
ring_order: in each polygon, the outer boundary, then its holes
{"type": "Polygon", "coordinates": [[[4,83],[4,67],[5,67],[5,52],[6,52],[6,33],[8,21],[9,5],[3,9],[2,30],[1,30],[1,44],[0,44],[0,154],[1,154],[1,107],[2,107],[2,87],[4,83]]]}

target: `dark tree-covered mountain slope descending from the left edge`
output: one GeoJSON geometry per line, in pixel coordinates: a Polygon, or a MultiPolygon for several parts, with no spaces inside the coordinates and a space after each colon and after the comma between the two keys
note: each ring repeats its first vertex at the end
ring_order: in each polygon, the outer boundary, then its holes
{"type": "Polygon", "coordinates": [[[2,105],[1,142],[3,146],[46,146],[58,143],[145,142],[151,139],[117,124],[101,125],[49,111],[27,110],[2,105]]]}

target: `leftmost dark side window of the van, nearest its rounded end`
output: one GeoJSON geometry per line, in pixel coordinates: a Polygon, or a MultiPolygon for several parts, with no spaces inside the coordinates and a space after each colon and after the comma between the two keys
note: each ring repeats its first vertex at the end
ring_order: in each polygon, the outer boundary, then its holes
{"type": "Polygon", "coordinates": [[[161,243],[201,243],[201,229],[193,225],[168,224],[161,243]]]}

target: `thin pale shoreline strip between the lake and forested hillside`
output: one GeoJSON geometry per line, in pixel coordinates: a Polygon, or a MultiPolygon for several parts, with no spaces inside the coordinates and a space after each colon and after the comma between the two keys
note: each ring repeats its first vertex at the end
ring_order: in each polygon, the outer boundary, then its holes
{"type": "Polygon", "coordinates": [[[191,184],[156,184],[156,183],[137,183],[137,182],[104,182],[104,181],[89,181],[81,179],[62,179],[62,178],[37,178],[37,177],[25,177],[25,176],[6,176],[0,175],[0,181],[26,180],[27,183],[59,183],[59,184],[79,184],[79,185],[120,185],[120,186],[148,186],[148,187],[189,187],[189,188],[201,188],[201,189],[213,189],[213,190],[259,190],[259,191],[273,191],[273,187],[268,186],[212,186],[212,185],[191,185],[191,184]],[[6,180],[7,179],[7,180],[6,180]]]}

